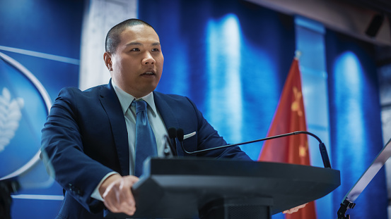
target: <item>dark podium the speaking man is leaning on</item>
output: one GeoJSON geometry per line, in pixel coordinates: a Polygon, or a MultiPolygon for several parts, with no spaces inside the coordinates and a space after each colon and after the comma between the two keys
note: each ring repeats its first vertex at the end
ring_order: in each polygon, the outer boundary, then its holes
{"type": "Polygon", "coordinates": [[[132,188],[136,212],[105,218],[271,218],[320,199],[339,170],[211,158],[151,158],[132,188]]]}

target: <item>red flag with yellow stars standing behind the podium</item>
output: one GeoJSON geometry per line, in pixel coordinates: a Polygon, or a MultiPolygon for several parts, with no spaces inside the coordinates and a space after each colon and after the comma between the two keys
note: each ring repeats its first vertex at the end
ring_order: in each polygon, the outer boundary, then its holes
{"type": "MultiPolygon", "coordinates": [[[[307,127],[305,124],[303,94],[301,92],[300,70],[298,68],[298,60],[295,58],[289,70],[279,106],[267,136],[296,131],[307,131],[307,127]]],[[[297,134],[268,140],[262,147],[258,161],[310,165],[307,135],[297,134]]],[[[285,218],[315,219],[315,203],[310,202],[298,212],[286,214],[285,218]]]]}

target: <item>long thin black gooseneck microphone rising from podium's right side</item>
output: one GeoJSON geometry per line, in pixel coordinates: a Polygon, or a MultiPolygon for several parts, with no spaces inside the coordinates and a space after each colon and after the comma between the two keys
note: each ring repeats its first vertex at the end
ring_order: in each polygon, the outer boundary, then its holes
{"type": "Polygon", "coordinates": [[[327,154],[327,149],[326,149],[325,144],[323,144],[322,140],[320,140],[319,137],[317,137],[315,134],[313,134],[311,132],[297,131],[297,132],[291,132],[291,133],[286,133],[286,134],[279,134],[279,135],[276,135],[276,136],[265,137],[263,139],[252,140],[252,141],[249,141],[249,142],[242,142],[242,143],[238,143],[238,144],[227,144],[227,145],[216,146],[214,148],[203,149],[203,150],[199,150],[199,151],[186,151],[185,146],[183,146],[183,137],[185,135],[184,135],[184,132],[183,132],[183,130],[181,128],[177,129],[177,134],[176,135],[177,135],[177,139],[179,140],[179,142],[180,142],[180,144],[182,146],[182,150],[185,151],[186,154],[199,154],[199,153],[206,152],[206,151],[213,151],[213,150],[216,150],[216,149],[223,149],[223,148],[226,148],[228,146],[239,146],[239,145],[243,145],[243,144],[251,144],[251,143],[255,143],[255,142],[266,141],[266,140],[269,140],[269,139],[276,139],[276,138],[279,138],[279,137],[288,137],[288,136],[291,136],[291,135],[294,135],[294,134],[309,134],[310,136],[315,137],[315,139],[317,139],[317,141],[319,142],[320,156],[322,156],[323,165],[325,165],[325,168],[331,168],[329,155],[327,154]]]}

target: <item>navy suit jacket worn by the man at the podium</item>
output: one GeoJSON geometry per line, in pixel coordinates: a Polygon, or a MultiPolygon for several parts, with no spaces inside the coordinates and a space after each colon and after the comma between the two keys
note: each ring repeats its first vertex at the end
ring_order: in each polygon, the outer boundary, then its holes
{"type": "MultiPolygon", "coordinates": [[[[196,132],[184,140],[187,151],[226,144],[187,97],[160,92],[153,96],[166,128],[196,132]]],[[[107,173],[129,175],[127,127],[111,82],[83,92],[62,89],[42,129],[41,151],[48,173],[64,188],[57,218],[103,218],[105,206],[91,198],[93,190],[107,173]]],[[[188,156],[180,147],[177,154],[188,156]]],[[[238,147],[197,156],[250,160],[238,147]]]]}

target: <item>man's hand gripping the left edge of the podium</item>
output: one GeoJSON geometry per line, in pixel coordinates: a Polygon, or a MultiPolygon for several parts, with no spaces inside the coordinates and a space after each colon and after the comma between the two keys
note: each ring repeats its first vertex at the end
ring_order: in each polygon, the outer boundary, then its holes
{"type": "Polygon", "coordinates": [[[137,181],[139,178],[133,175],[122,177],[115,174],[107,177],[99,187],[99,193],[107,209],[113,213],[134,215],[136,201],[134,201],[131,188],[137,181]]]}

